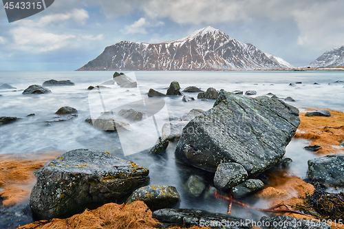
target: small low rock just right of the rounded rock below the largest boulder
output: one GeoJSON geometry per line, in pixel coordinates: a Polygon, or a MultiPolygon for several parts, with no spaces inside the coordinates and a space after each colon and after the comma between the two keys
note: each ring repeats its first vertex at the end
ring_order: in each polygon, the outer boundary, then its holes
{"type": "Polygon", "coordinates": [[[234,198],[242,198],[263,188],[264,183],[260,179],[248,179],[246,182],[242,182],[241,184],[230,188],[230,193],[232,193],[234,198]]]}

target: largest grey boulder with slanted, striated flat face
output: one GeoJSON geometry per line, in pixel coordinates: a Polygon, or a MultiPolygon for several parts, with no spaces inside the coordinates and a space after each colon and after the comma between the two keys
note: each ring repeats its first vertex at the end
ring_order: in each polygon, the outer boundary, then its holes
{"type": "Polygon", "coordinates": [[[213,172],[236,162],[253,177],[281,160],[299,123],[299,110],[281,100],[222,90],[212,109],[184,127],[175,155],[213,172]]]}

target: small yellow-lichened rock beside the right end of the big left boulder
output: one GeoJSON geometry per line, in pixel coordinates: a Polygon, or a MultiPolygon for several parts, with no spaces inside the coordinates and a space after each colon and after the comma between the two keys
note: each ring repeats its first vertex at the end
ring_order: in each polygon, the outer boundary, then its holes
{"type": "Polygon", "coordinates": [[[162,208],[173,208],[180,202],[180,195],[173,186],[144,186],[136,189],[127,200],[127,204],[133,201],[144,201],[152,211],[162,208]]]}

